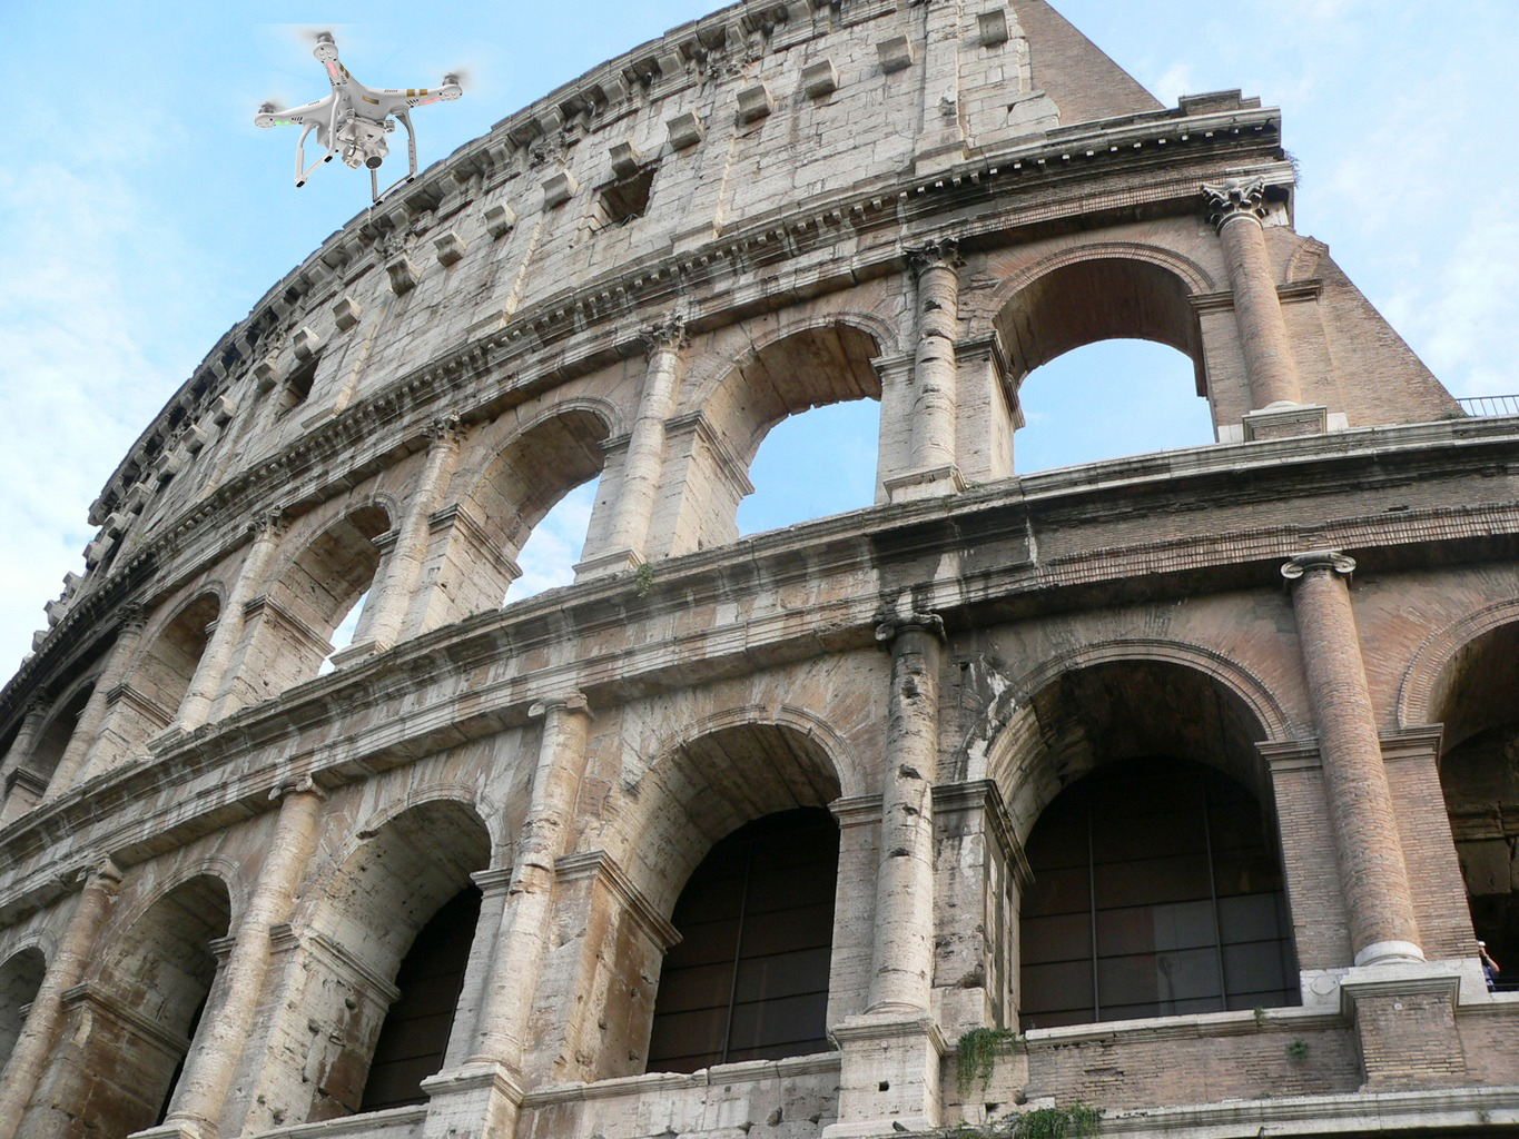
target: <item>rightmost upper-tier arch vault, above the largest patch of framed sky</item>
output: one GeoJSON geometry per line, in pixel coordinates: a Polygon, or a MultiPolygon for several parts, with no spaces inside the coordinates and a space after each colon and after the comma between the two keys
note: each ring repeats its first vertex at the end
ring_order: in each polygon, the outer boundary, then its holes
{"type": "Polygon", "coordinates": [[[1009,383],[1098,340],[1153,340],[1186,355],[1197,393],[1208,392],[1202,328],[1189,298],[1217,289],[1191,258],[1136,241],[1062,249],[1024,267],[993,295],[990,325],[1009,360],[1009,383]]]}

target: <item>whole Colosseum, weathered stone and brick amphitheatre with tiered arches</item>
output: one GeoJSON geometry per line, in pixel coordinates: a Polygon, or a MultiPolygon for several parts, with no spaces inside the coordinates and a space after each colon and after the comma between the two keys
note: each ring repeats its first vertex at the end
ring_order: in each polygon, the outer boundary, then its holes
{"type": "Polygon", "coordinates": [[[0,1139],[1519,1128],[1519,416],[1293,214],[1045,0],[744,0],[333,234],[0,693],[0,1139]],[[1015,474],[1118,337],[1215,442],[1015,474]]]}

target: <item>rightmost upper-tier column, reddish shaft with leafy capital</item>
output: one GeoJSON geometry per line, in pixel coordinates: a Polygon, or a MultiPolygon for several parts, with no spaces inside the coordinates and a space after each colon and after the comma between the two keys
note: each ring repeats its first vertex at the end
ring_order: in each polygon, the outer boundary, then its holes
{"type": "Polygon", "coordinates": [[[1302,381],[1261,226],[1265,179],[1230,178],[1218,185],[1203,185],[1203,197],[1211,210],[1208,220],[1218,226],[1218,240],[1224,248],[1250,402],[1256,409],[1302,404],[1302,381]]]}

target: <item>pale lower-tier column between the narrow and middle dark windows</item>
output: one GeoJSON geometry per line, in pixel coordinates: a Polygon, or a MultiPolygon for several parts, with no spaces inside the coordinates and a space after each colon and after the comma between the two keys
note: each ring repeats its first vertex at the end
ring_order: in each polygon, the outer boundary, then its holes
{"type": "Polygon", "coordinates": [[[579,693],[529,709],[544,717],[527,822],[516,843],[512,885],[497,935],[495,957],[482,1001],[478,1039],[469,1063],[519,1068],[527,1013],[548,949],[548,910],[554,860],[568,853],[576,794],[585,776],[585,737],[591,720],[579,693]]]}

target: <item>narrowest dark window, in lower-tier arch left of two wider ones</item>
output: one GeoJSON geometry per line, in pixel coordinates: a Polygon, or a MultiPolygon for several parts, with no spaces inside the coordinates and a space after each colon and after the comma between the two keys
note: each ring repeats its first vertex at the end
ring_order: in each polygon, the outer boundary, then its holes
{"type": "Polygon", "coordinates": [[[444,902],[412,942],[395,975],[401,995],[380,1028],[360,1112],[427,1103],[422,1080],[444,1066],[478,920],[480,890],[471,885],[444,902]]]}

